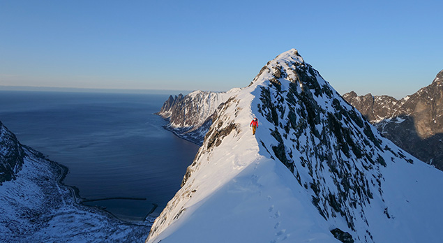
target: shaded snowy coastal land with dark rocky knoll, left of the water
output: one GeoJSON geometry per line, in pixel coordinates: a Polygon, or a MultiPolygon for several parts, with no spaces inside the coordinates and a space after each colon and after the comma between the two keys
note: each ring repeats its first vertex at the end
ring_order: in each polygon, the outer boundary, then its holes
{"type": "Polygon", "coordinates": [[[75,202],[63,168],[21,145],[0,122],[0,242],[137,242],[150,223],[126,223],[75,202]],[[12,168],[12,169],[11,169],[12,168]]]}

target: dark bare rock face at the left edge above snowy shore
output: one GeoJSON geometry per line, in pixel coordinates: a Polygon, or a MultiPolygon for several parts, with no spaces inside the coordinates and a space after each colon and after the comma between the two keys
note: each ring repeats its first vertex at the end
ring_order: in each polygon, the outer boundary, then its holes
{"type": "Polygon", "coordinates": [[[15,179],[22,169],[24,151],[13,133],[0,121],[0,185],[15,179]]]}

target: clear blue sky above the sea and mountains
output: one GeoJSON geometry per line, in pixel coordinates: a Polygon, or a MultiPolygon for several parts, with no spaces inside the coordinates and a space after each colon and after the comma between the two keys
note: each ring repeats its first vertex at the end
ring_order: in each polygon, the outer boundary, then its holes
{"type": "Polygon", "coordinates": [[[443,69],[443,1],[0,0],[0,85],[226,91],[296,48],[341,94],[443,69]]]}

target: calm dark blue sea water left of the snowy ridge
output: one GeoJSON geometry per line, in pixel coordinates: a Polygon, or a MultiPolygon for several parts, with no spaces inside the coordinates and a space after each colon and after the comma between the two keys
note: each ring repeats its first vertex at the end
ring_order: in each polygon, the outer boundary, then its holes
{"type": "Polygon", "coordinates": [[[167,95],[0,91],[0,121],[24,145],[69,168],[65,183],[88,205],[126,220],[153,216],[179,190],[197,145],[162,128],[153,115],[167,95]]]}

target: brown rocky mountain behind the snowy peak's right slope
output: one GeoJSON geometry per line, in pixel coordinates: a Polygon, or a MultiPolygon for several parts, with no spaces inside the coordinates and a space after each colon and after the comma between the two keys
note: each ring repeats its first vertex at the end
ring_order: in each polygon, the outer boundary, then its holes
{"type": "Polygon", "coordinates": [[[443,71],[432,84],[400,101],[354,91],[343,98],[398,147],[443,170],[443,71]]]}

